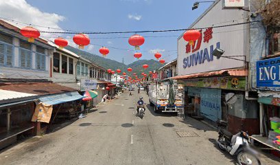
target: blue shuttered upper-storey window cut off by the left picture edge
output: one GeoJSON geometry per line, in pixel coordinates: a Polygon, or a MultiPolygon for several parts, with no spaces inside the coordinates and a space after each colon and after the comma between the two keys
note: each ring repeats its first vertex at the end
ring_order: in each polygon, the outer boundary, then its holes
{"type": "Polygon", "coordinates": [[[12,45],[12,36],[0,33],[0,65],[12,67],[13,59],[14,45],[12,45]]]}

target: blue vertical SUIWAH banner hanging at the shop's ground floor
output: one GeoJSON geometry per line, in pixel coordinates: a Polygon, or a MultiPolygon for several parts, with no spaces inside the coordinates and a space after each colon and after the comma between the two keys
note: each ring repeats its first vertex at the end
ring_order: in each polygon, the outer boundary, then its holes
{"type": "Polygon", "coordinates": [[[200,113],[212,121],[222,118],[221,89],[202,89],[200,93],[200,113]]]}

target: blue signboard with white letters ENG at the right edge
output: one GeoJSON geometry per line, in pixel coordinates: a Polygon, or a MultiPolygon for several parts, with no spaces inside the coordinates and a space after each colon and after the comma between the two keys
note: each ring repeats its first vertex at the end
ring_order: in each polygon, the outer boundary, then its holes
{"type": "Polygon", "coordinates": [[[280,57],[257,61],[257,87],[280,87],[280,57]]]}

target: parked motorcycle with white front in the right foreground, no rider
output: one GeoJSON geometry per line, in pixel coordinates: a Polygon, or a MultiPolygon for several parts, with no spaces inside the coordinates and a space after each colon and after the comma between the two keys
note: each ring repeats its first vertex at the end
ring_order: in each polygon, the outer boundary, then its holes
{"type": "Polygon", "coordinates": [[[248,133],[240,131],[233,135],[226,128],[226,122],[222,120],[217,121],[218,125],[218,143],[222,151],[227,151],[231,155],[237,155],[237,162],[240,165],[255,165],[261,164],[257,151],[250,147],[250,137],[248,133]]]}

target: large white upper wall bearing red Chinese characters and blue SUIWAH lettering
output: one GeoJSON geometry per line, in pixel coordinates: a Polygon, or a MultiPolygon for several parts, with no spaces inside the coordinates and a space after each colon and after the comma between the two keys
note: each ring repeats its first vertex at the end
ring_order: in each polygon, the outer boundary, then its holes
{"type": "MultiPolygon", "coordinates": [[[[238,9],[224,9],[222,10],[222,1],[216,3],[211,10],[209,10],[200,20],[191,25],[190,28],[205,28],[211,27],[212,25],[229,25],[233,23],[246,22],[246,14],[248,12],[238,9]]],[[[212,39],[209,42],[204,42],[205,29],[202,30],[202,39],[196,41],[194,47],[190,47],[191,51],[186,52],[187,41],[183,39],[182,36],[178,39],[178,75],[195,74],[200,72],[210,72],[220,69],[231,69],[244,67],[245,63],[243,61],[236,61],[229,58],[217,59],[211,55],[211,51],[215,50],[216,47],[224,50],[223,56],[244,56],[248,54],[248,25],[234,25],[226,28],[213,28],[212,29],[212,39]],[[198,43],[201,40],[201,45],[198,50],[198,43]],[[184,61],[187,58],[193,60],[193,55],[200,55],[208,57],[205,60],[200,61],[201,63],[189,63],[190,66],[185,65],[184,61]]],[[[210,32],[210,31],[209,31],[210,32]]],[[[244,57],[237,57],[244,60],[244,57]]]]}

